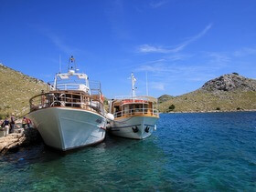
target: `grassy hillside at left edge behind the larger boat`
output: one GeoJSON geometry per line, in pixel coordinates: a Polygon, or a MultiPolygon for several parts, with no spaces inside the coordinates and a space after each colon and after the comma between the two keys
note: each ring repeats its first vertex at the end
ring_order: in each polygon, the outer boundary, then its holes
{"type": "Polygon", "coordinates": [[[11,113],[22,116],[29,111],[29,99],[46,90],[47,85],[0,64],[0,119],[11,113]]]}

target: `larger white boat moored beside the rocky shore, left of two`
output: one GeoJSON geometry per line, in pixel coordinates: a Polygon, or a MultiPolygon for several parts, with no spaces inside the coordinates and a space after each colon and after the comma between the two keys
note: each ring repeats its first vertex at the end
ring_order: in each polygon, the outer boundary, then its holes
{"type": "Polygon", "coordinates": [[[100,143],[106,133],[101,84],[72,65],[71,56],[68,73],[57,74],[52,90],[30,99],[28,114],[45,144],[62,151],[100,143]]]}

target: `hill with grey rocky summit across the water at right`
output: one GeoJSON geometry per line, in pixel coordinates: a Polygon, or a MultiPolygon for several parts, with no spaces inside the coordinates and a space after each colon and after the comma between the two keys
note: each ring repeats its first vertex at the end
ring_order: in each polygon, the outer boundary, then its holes
{"type": "Polygon", "coordinates": [[[209,80],[196,91],[160,103],[161,112],[207,112],[256,109],[256,80],[237,73],[209,80]]]}

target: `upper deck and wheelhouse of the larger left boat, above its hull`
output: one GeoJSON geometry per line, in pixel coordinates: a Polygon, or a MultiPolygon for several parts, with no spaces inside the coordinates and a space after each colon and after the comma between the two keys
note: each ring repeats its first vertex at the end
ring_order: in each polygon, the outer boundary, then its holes
{"type": "Polygon", "coordinates": [[[90,81],[86,74],[57,74],[48,93],[42,92],[30,99],[30,111],[47,107],[76,107],[104,115],[100,82],[90,81]]]}

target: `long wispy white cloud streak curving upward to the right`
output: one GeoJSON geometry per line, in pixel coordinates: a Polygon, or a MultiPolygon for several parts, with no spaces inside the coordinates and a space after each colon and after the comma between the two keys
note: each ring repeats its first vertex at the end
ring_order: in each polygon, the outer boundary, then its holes
{"type": "Polygon", "coordinates": [[[191,44],[192,42],[196,41],[201,36],[205,35],[208,30],[212,27],[212,24],[207,25],[203,31],[199,34],[189,38],[187,41],[183,42],[180,45],[175,45],[172,47],[163,47],[163,46],[154,46],[154,45],[140,45],[138,47],[139,53],[161,53],[161,54],[169,54],[169,53],[177,53],[183,50],[187,45],[191,44]]]}

